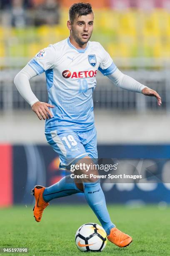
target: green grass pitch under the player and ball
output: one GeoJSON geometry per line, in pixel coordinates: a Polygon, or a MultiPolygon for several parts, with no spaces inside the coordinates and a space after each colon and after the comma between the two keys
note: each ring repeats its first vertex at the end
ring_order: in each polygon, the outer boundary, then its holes
{"type": "MultiPolygon", "coordinates": [[[[107,208],[117,228],[132,236],[133,243],[118,248],[107,241],[100,255],[170,255],[170,207],[109,205],[107,208]]],[[[32,206],[1,208],[0,247],[29,248],[29,253],[7,255],[85,255],[75,246],[74,238],[77,228],[88,222],[100,224],[87,205],[50,205],[40,223],[33,218],[32,206]]],[[[92,255],[97,252],[90,252],[92,255]]]]}

